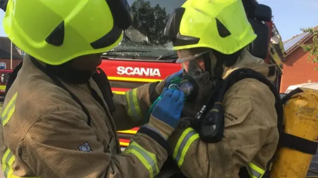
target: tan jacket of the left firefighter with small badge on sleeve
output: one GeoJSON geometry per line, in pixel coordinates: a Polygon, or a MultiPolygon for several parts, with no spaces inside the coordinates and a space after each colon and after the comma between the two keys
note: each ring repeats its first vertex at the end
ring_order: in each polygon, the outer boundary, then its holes
{"type": "MultiPolygon", "coordinates": [[[[149,84],[114,94],[113,118],[91,96],[88,84],[64,85],[87,108],[91,126],[67,91],[30,59],[23,60],[2,108],[0,158],[6,178],[149,178],[159,172],[167,152],[154,136],[139,132],[120,153],[116,135],[117,129],[143,123],[149,84]]],[[[102,98],[92,79],[89,85],[102,98]]]]}

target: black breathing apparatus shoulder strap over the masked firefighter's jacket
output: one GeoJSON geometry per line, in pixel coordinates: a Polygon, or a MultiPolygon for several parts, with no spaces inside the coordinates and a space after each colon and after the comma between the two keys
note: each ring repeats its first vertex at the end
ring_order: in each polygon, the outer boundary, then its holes
{"type": "MultiPolygon", "coordinates": [[[[269,69],[269,71],[269,76],[274,75],[275,70],[269,69]]],[[[194,124],[194,129],[200,134],[200,138],[204,142],[216,143],[218,141],[221,141],[224,132],[224,111],[222,105],[224,95],[230,89],[230,87],[232,87],[233,84],[245,78],[257,79],[270,88],[276,98],[275,108],[279,118],[278,125],[282,123],[283,107],[281,104],[279,93],[275,86],[259,72],[249,68],[240,68],[233,71],[224,81],[222,81],[221,79],[219,81],[216,81],[214,92],[211,94],[207,103],[202,107],[200,112],[198,112],[197,116],[195,117],[194,122],[198,123],[194,124]],[[212,120],[215,121],[213,122],[212,120]],[[212,128],[212,124],[214,124],[215,129],[207,129],[207,125],[210,126],[209,128],[212,128]]],[[[279,131],[281,132],[282,129],[279,129],[279,131]]]]}

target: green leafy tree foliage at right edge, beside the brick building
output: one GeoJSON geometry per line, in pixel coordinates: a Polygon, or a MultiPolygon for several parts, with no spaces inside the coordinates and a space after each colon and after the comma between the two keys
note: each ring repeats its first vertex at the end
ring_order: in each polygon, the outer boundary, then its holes
{"type": "MultiPolygon", "coordinates": [[[[309,32],[313,35],[313,44],[304,44],[302,48],[304,51],[309,52],[308,61],[312,63],[318,62],[318,29],[317,28],[305,28],[301,29],[303,32],[309,32]]],[[[315,68],[318,70],[318,67],[315,68]]]]}

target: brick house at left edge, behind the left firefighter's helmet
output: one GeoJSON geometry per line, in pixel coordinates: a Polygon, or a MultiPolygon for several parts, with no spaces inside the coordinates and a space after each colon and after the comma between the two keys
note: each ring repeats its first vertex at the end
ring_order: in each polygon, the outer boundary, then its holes
{"type": "Polygon", "coordinates": [[[2,69],[14,69],[23,59],[24,53],[12,44],[11,66],[11,41],[7,37],[0,37],[0,67],[2,69]]]}

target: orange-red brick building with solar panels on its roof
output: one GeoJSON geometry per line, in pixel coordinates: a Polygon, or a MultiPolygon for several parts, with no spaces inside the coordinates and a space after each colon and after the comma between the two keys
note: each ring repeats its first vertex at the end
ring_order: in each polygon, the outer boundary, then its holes
{"type": "Polygon", "coordinates": [[[308,62],[309,54],[303,50],[302,44],[313,43],[313,35],[302,33],[284,42],[286,52],[283,60],[283,75],[280,92],[284,93],[290,85],[318,82],[318,63],[308,62]]]}

